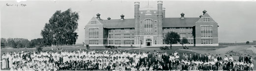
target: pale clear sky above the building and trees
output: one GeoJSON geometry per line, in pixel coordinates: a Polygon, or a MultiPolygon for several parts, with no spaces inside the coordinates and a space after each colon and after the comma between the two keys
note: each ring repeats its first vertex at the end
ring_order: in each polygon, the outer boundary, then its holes
{"type": "MultiPolygon", "coordinates": [[[[158,0],[138,1],[140,7],[147,6],[148,3],[157,7],[158,0]]],[[[76,31],[79,36],[76,43],[82,43],[85,38],[84,27],[92,17],[96,17],[97,13],[101,14],[102,19],[108,17],[119,19],[122,14],[125,18],[134,18],[134,2],[135,0],[27,0],[21,2],[1,0],[0,37],[29,40],[42,38],[40,32],[49,18],[57,10],[63,12],[71,8],[80,16],[76,31]]],[[[179,18],[181,13],[185,14],[185,18],[197,18],[202,15],[203,10],[206,10],[219,25],[220,42],[256,40],[256,0],[163,0],[163,8],[166,10],[166,18],[179,18]]]]}

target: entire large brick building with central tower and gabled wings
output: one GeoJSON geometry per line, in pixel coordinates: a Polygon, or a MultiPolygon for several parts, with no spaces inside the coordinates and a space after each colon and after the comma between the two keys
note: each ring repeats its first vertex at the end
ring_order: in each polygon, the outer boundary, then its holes
{"type": "MultiPolygon", "coordinates": [[[[85,43],[90,46],[169,46],[163,43],[167,32],[177,32],[181,38],[189,40],[186,46],[219,46],[218,23],[203,11],[197,18],[165,18],[162,1],[157,8],[140,8],[134,2],[134,18],[101,19],[100,14],[93,17],[85,26],[85,43]]],[[[180,43],[173,46],[182,46],[180,43]]]]}

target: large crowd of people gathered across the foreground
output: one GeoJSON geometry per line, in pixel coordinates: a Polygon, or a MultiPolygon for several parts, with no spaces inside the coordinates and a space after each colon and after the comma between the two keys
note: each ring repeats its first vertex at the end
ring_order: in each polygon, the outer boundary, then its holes
{"type": "Polygon", "coordinates": [[[2,69],[11,71],[253,71],[253,57],[141,51],[76,50],[3,53],[2,69]]]}

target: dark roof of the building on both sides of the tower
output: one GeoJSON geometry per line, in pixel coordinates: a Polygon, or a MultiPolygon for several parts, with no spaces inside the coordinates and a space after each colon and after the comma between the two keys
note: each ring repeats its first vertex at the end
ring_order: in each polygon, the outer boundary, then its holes
{"type": "MultiPolygon", "coordinates": [[[[200,18],[164,18],[162,27],[193,27],[200,18]]],[[[134,18],[128,19],[99,19],[104,28],[134,28],[134,18]]]]}

